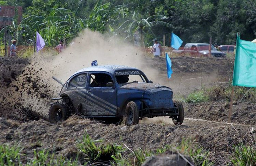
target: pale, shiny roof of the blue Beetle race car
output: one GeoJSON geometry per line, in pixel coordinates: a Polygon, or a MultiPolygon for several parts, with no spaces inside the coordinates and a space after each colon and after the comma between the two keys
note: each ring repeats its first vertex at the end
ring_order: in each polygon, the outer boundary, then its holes
{"type": "Polygon", "coordinates": [[[123,65],[99,65],[99,66],[86,67],[84,69],[81,69],[75,72],[73,75],[81,72],[91,72],[91,71],[109,72],[110,74],[114,74],[115,71],[120,71],[120,70],[136,70],[136,71],[142,72],[141,70],[136,69],[134,67],[123,66],[123,65]]]}

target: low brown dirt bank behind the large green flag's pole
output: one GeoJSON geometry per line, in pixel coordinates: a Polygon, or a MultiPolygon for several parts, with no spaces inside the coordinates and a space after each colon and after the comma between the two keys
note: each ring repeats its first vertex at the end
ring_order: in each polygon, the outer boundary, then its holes
{"type": "MultiPolygon", "coordinates": [[[[229,115],[228,102],[204,102],[198,104],[188,104],[186,106],[186,118],[196,118],[203,120],[213,120],[227,122],[229,115]]],[[[233,103],[232,123],[256,124],[256,105],[248,102],[233,103]]]]}

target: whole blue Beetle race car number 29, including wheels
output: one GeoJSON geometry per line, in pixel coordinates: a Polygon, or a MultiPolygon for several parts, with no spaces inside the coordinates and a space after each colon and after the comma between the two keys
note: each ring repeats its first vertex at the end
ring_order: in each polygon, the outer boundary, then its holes
{"type": "Polygon", "coordinates": [[[153,84],[133,67],[120,65],[91,66],[75,72],[66,82],[59,98],[51,99],[49,120],[66,120],[71,114],[87,118],[123,120],[138,124],[144,117],[169,116],[174,124],[182,124],[184,109],[173,101],[169,87],[153,84]]]}

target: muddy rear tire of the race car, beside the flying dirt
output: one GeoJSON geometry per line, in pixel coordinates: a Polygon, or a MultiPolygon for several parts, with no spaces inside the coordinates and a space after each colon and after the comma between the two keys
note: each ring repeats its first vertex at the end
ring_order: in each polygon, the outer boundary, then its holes
{"type": "Polygon", "coordinates": [[[63,102],[54,103],[49,110],[49,121],[57,123],[67,120],[69,117],[69,106],[63,102]]]}

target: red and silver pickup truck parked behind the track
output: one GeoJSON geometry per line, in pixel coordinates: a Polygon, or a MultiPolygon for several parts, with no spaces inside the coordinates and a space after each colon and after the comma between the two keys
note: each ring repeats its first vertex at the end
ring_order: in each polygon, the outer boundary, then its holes
{"type": "MultiPolygon", "coordinates": [[[[172,52],[181,55],[190,54],[194,57],[207,57],[209,55],[209,45],[207,43],[187,43],[183,50],[174,49],[172,52]]],[[[226,57],[225,52],[216,50],[213,45],[211,45],[211,54],[212,57],[226,57]]]]}

